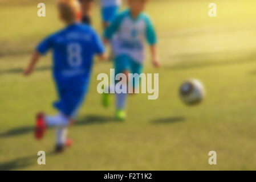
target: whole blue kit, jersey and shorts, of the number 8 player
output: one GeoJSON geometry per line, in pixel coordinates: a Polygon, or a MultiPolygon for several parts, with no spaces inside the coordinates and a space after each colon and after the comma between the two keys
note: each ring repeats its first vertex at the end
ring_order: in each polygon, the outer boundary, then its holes
{"type": "Polygon", "coordinates": [[[36,48],[42,55],[50,49],[59,95],[54,106],[74,118],[87,92],[93,57],[104,52],[103,43],[90,26],[75,23],[48,36],[36,48]]]}

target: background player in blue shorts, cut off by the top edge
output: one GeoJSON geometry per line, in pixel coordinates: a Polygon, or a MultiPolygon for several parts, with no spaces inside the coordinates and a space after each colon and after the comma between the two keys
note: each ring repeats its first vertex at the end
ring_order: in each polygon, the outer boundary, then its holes
{"type": "Polygon", "coordinates": [[[117,15],[121,0],[100,0],[101,1],[101,16],[103,28],[107,28],[113,18],[117,15]]]}

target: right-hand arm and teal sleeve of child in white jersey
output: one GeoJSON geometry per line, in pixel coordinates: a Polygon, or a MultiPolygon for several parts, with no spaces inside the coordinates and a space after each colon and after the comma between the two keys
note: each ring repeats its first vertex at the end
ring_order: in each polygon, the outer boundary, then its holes
{"type": "Polygon", "coordinates": [[[152,64],[155,67],[160,66],[160,59],[157,52],[157,36],[155,28],[149,18],[146,19],[147,21],[147,30],[146,30],[146,39],[150,47],[150,53],[152,57],[152,64]]]}

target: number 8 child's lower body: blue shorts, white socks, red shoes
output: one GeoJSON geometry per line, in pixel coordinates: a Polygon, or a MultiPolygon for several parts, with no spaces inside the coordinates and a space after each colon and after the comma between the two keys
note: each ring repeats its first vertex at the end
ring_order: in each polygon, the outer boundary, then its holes
{"type": "Polygon", "coordinates": [[[82,104],[87,90],[85,85],[87,82],[84,81],[56,81],[59,101],[55,102],[54,106],[59,113],[54,116],[40,113],[37,117],[35,132],[37,139],[43,138],[47,127],[56,128],[56,152],[72,144],[72,140],[66,138],[67,128],[74,123],[80,104],[82,104]]]}

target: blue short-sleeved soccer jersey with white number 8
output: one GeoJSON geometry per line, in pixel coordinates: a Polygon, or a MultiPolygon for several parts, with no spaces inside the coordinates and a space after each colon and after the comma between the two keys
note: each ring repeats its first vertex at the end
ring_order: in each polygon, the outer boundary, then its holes
{"type": "Polygon", "coordinates": [[[89,26],[75,23],[44,39],[36,50],[44,55],[53,51],[53,71],[61,77],[90,75],[95,53],[104,52],[96,32],[89,26]]]}

